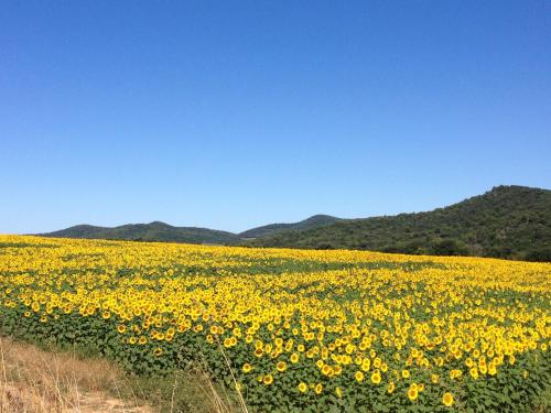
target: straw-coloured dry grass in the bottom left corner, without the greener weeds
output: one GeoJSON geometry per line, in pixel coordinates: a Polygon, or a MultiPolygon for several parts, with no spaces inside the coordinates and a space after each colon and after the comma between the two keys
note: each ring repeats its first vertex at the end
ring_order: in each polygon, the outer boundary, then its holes
{"type": "Polygon", "coordinates": [[[79,359],[0,337],[0,412],[149,413],[131,394],[125,376],[100,359],[79,359]],[[125,389],[122,389],[125,388],[125,389]]]}

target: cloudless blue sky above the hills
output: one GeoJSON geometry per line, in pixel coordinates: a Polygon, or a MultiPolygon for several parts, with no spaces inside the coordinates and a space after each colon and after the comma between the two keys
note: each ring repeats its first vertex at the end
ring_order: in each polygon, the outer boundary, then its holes
{"type": "Polygon", "coordinates": [[[2,1],[0,232],[551,187],[551,2],[2,1]]]}

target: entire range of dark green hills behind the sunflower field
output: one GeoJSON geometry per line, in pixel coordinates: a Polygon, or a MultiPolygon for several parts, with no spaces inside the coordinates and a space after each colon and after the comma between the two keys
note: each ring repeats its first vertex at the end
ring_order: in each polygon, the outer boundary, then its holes
{"type": "Polygon", "coordinates": [[[115,228],[79,225],[43,236],[551,261],[551,191],[497,186],[428,213],[365,219],[315,215],[300,222],[271,224],[237,235],[155,221],[115,228]]]}

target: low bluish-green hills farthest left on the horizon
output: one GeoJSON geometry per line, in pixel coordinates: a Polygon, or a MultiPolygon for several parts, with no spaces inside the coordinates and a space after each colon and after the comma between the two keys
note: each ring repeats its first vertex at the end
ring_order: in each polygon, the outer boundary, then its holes
{"type": "Polygon", "coordinates": [[[55,232],[41,233],[41,236],[190,243],[236,244],[239,242],[239,237],[231,232],[207,228],[173,227],[160,221],[150,224],[128,224],[114,228],[77,225],[55,232]]]}

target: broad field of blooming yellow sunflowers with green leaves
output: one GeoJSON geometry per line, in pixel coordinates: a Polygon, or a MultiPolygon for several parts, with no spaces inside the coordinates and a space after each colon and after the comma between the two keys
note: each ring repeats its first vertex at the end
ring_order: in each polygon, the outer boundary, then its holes
{"type": "Polygon", "coordinates": [[[549,409],[550,303],[550,263],[0,236],[2,334],[252,412],[549,409]]]}

